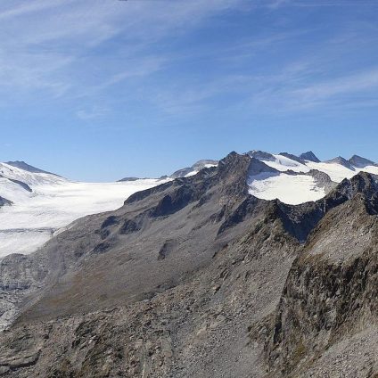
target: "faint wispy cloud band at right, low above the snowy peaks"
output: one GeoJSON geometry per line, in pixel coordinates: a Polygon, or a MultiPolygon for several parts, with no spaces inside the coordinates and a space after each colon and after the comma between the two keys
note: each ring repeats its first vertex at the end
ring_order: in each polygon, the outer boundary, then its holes
{"type": "Polygon", "coordinates": [[[266,86],[251,94],[246,105],[266,112],[376,106],[377,67],[338,78],[316,77],[314,71],[304,67],[303,70],[284,70],[281,75],[262,78],[266,86]]]}

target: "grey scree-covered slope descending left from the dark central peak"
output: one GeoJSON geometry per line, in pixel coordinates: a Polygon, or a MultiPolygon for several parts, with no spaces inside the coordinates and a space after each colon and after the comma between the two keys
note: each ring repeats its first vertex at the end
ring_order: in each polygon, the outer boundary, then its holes
{"type": "Polygon", "coordinates": [[[248,326],[274,310],[300,247],[277,204],[248,194],[250,167],[232,153],[78,220],[29,255],[47,271],[0,336],[6,374],[250,374],[260,346],[248,326]]]}

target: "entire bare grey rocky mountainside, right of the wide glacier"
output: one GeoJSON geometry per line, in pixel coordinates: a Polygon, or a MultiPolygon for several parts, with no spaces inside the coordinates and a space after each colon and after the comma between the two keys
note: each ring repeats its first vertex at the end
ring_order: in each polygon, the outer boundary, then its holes
{"type": "Polygon", "coordinates": [[[196,168],[1,259],[1,376],[378,376],[374,163],[196,168]],[[287,183],[315,201],[264,198],[287,183]]]}

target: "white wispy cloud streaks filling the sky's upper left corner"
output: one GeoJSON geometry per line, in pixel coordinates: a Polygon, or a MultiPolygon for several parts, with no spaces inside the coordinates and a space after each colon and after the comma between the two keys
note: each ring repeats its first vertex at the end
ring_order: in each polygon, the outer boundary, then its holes
{"type": "Polygon", "coordinates": [[[0,89],[85,93],[150,75],[164,58],[147,47],[237,0],[120,2],[29,0],[0,4],[0,89]],[[118,42],[113,38],[120,36],[118,42]],[[106,53],[111,44],[112,55],[106,53]],[[101,53],[103,49],[103,53],[101,53]],[[111,69],[108,69],[110,67],[111,69]],[[88,68],[95,76],[90,76],[88,68]]]}

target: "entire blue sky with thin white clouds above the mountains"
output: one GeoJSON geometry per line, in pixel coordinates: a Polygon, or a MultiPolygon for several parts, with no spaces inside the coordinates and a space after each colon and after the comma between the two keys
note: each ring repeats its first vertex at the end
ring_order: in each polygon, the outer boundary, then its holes
{"type": "Polygon", "coordinates": [[[377,45],[376,0],[2,0],[0,160],[86,181],[378,161],[377,45]]]}

